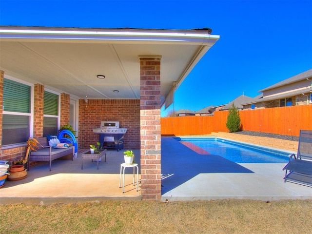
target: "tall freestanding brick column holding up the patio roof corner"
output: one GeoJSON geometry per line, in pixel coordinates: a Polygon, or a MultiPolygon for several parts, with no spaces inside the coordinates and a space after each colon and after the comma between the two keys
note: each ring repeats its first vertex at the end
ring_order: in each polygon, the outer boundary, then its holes
{"type": "Polygon", "coordinates": [[[140,57],[141,194],[161,198],[160,57],[140,57]]]}

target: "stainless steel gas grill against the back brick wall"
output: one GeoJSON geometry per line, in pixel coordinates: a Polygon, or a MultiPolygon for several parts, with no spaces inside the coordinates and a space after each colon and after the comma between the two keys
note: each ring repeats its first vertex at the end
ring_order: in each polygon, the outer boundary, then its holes
{"type": "Polygon", "coordinates": [[[101,126],[94,128],[93,132],[99,134],[102,149],[117,149],[117,151],[123,149],[123,136],[127,129],[119,128],[119,121],[101,121],[101,126]]]}

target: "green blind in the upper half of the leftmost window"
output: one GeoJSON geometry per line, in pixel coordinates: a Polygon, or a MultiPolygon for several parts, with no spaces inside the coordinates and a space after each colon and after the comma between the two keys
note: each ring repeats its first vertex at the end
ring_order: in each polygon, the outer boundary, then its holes
{"type": "Polygon", "coordinates": [[[3,79],[3,110],[30,113],[31,87],[10,79],[3,79]]]}

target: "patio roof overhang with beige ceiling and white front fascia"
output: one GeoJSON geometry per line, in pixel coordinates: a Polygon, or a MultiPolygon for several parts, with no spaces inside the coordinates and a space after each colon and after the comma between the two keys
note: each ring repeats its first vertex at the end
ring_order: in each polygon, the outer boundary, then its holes
{"type": "Polygon", "coordinates": [[[210,32],[2,26],[0,70],[74,98],[139,99],[139,57],[158,56],[164,101],[219,39],[210,32]]]}

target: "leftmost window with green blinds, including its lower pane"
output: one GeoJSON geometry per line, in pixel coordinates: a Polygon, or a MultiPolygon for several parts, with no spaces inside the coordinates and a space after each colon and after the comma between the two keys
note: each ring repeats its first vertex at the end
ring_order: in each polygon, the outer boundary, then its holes
{"type": "Polygon", "coordinates": [[[31,86],[3,79],[2,145],[26,142],[30,134],[31,86]]]}

